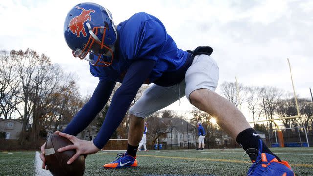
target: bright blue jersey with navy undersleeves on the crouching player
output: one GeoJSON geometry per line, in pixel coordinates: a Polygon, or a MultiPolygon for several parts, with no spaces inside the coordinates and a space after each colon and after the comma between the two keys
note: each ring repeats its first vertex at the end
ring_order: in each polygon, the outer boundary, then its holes
{"type": "Polygon", "coordinates": [[[85,129],[106,104],[115,82],[121,82],[100,131],[93,139],[99,149],[121,123],[143,83],[153,82],[160,86],[180,83],[193,59],[190,53],[177,48],[160,20],[143,12],[121,22],[117,34],[112,65],[98,67],[90,64],[91,74],[100,81],[90,100],[64,130],[67,134],[77,135],[85,129]]]}

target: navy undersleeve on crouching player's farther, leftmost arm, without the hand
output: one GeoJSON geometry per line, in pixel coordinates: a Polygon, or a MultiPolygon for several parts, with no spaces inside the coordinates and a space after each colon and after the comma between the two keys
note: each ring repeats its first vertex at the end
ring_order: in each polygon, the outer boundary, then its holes
{"type": "Polygon", "coordinates": [[[63,133],[76,136],[82,132],[103,109],[113,91],[115,83],[114,81],[99,81],[90,100],[71,120],[63,133]]]}

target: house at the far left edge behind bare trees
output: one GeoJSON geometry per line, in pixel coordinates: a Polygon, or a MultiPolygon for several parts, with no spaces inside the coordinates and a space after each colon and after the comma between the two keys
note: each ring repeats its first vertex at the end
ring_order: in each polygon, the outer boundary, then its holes
{"type": "Polygon", "coordinates": [[[22,129],[22,120],[0,119],[0,132],[5,132],[5,139],[18,140],[22,129]]]}

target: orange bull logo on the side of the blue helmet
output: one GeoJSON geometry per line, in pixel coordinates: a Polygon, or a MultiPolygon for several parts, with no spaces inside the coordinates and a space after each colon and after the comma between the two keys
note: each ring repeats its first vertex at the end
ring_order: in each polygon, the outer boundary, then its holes
{"type": "Polygon", "coordinates": [[[72,18],[69,22],[69,30],[72,31],[73,34],[76,34],[77,37],[80,37],[80,33],[82,32],[83,36],[86,37],[86,31],[84,27],[84,23],[89,20],[91,21],[90,13],[94,13],[95,11],[92,9],[85,10],[82,7],[76,6],[77,9],[83,10],[78,16],[72,18]]]}

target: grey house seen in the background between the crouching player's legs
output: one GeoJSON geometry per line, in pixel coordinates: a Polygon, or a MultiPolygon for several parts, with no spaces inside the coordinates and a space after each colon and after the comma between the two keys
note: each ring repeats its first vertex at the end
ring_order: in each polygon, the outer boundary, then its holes
{"type": "Polygon", "coordinates": [[[156,143],[166,144],[167,146],[187,147],[188,142],[189,144],[196,144],[196,128],[184,119],[150,117],[148,120],[148,136],[155,135],[152,133],[157,135],[156,143]]]}

